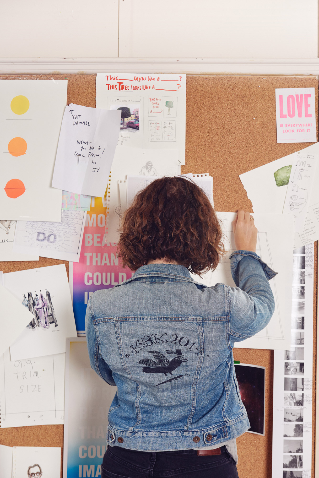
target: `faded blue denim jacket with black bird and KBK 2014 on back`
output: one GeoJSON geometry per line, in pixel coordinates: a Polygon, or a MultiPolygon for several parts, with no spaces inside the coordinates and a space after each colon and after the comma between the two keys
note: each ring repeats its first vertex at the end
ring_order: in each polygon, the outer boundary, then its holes
{"type": "Polygon", "coordinates": [[[140,451],[217,445],[249,421],[233,347],[274,312],[276,275],[254,252],[231,254],[237,287],[194,282],[186,267],[149,264],[91,295],[86,337],[92,368],[117,391],[108,445],[140,451]]]}

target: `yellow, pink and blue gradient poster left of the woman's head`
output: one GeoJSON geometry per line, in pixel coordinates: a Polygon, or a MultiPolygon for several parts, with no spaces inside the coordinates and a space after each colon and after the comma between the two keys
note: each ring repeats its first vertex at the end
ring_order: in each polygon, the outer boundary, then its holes
{"type": "Polygon", "coordinates": [[[124,282],[133,273],[123,268],[117,257],[117,244],[105,242],[106,201],[92,197],[87,211],[79,262],[70,262],[69,282],[78,337],[85,337],[85,312],[88,299],[99,289],[124,282]]]}

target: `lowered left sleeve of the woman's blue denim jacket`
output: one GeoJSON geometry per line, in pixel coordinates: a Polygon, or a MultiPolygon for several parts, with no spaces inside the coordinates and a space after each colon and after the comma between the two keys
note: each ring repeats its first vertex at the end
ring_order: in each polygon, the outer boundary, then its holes
{"type": "Polygon", "coordinates": [[[89,298],[85,315],[86,344],[89,353],[90,364],[92,369],[96,371],[97,375],[99,375],[101,379],[105,380],[109,385],[116,386],[116,383],[112,377],[112,370],[100,355],[96,329],[93,324],[93,314],[91,307],[93,296],[94,294],[92,294],[89,298]]]}

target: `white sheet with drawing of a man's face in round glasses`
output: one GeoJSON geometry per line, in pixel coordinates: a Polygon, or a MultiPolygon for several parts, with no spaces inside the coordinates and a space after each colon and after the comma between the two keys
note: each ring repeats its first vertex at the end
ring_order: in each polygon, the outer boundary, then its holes
{"type": "Polygon", "coordinates": [[[14,446],[12,478],[41,473],[43,478],[57,478],[61,473],[61,448],[50,446],[14,446]]]}

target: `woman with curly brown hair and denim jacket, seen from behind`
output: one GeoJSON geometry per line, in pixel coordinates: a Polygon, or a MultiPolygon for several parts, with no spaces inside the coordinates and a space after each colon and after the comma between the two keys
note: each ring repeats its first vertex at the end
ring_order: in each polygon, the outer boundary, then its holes
{"type": "Polygon", "coordinates": [[[117,386],[102,477],[237,477],[236,437],[249,428],[234,342],[268,324],[275,275],[256,255],[249,213],[233,223],[237,288],[206,287],[222,231],[202,190],[182,177],[150,183],[122,220],[118,250],[134,276],[96,291],[86,311],[92,368],[117,386]]]}

